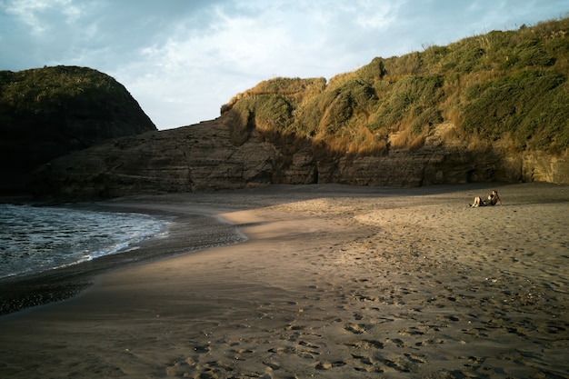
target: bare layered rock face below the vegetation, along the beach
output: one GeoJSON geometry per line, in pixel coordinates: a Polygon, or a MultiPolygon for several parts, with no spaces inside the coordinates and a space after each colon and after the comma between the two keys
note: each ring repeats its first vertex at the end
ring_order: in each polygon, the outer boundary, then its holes
{"type": "Polygon", "coordinates": [[[415,150],[392,149],[382,156],[338,155],[308,140],[282,137],[269,142],[256,129],[235,138],[232,122],[225,114],[198,125],[119,138],[65,155],[35,172],[35,190],[82,200],[271,183],[569,183],[566,154],[552,160],[541,155],[504,155],[490,148],[469,150],[459,140],[444,145],[434,133],[415,150]]]}

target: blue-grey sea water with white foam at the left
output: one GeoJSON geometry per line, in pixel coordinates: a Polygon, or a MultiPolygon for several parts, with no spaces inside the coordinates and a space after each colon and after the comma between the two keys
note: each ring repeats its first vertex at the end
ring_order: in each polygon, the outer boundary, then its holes
{"type": "Polygon", "coordinates": [[[147,214],[0,204],[0,278],[117,254],[165,233],[165,221],[147,214]]]}

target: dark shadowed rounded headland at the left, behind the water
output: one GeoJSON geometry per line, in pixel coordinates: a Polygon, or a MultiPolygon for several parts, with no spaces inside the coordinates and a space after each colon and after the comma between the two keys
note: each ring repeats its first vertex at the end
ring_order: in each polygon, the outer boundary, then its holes
{"type": "Polygon", "coordinates": [[[90,68],[0,72],[0,192],[26,191],[37,166],[100,141],[156,130],[112,77],[90,68]]]}

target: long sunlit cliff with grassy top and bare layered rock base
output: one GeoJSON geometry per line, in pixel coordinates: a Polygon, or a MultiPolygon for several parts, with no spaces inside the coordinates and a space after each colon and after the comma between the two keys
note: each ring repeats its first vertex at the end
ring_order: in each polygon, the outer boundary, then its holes
{"type": "Polygon", "coordinates": [[[85,199],[278,184],[569,184],[569,19],[351,73],[275,78],[213,121],[115,139],[34,175],[85,199]]]}

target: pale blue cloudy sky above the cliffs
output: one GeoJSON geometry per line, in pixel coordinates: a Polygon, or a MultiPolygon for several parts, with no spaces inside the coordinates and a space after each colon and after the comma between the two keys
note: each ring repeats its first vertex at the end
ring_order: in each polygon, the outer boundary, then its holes
{"type": "Polygon", "coordinates": [[[0,0],[0,70],[113,76],[158,129],[219,116],[263,80],[569,15],[569,0],[0,0]]]}

